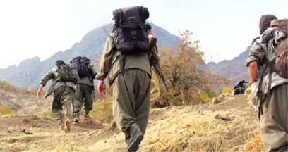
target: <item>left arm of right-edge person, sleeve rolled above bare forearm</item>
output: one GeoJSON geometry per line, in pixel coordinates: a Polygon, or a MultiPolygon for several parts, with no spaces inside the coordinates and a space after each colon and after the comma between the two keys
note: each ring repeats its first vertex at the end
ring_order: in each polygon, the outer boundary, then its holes
{"type": "Polygon", "coordinates": [[[248,75],[251,83],[257,81],[258,64],[263,63],[264,58],[265,51],[260,46],[260,44],[258,44],[258,42],[254,42],[251,46],[248,58],[246,59],[246,66],[248,66],[248,75]]]}

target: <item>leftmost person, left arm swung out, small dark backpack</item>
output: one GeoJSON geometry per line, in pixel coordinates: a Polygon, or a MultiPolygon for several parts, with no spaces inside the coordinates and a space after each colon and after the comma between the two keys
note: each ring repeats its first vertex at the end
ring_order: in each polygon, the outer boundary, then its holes
{"type": "Polygon", "coordinates": [[[53,80],[53,84],[50,86],[52,89],[49,89],[52,91],[47,96],[53,93],[52,112],[54,113],[54,118],[58,122],[59,129],[67,133],[70,132],[70,123],[73,118],[71,106],[73,99],[75,99],[74,85],[77,83],[79,77],[78,73],[73,71],[64,61],[56,61],[55,65],[56,67],[49,70],[42,78],[37,96],[41,98],[43,87],[45,87],[49,80],[53,80]]]}

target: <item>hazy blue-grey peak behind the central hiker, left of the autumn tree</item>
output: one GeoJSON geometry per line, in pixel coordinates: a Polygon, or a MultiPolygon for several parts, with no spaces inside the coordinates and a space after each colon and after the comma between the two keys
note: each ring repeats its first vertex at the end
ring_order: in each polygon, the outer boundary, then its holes
{"type": "MultiPolygon", "coordinates": [[[[151,25],[155,36],[159,38],[157,42],[159,47],[177,46],[179,37],[152,23],[151,25]]],[[[11,65],[0,69],[0,80],[6,80],[17,87],[38,87],[42,76],[54,67],[56,60],[62,59],[68,62],[75,56],[87,56],[92,61],[98,60],[111,27],[112,24],[108,24],[95,28],[85,34],[80,42],[73,44],[70,49],[54,53],[44,61],[40,61],[40,58],[35,56],[22,61],[18,66],[11,65]]]]}

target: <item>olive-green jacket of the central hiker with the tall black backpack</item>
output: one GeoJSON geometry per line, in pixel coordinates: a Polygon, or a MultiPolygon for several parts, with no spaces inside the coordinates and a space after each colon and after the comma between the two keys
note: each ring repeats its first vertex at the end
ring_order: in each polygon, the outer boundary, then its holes
{"type": "MultiPolygon", "coordinates": [[[[104,44],[100,59],[100,68],[96,76],[97,79],[104,76],[108,79],[108,84],[113,83],[114,78],[121,72],[121,53],[114,51],[114,34],[109,34],[104,44]]],[[[139,53],[138,56],[126,56],[125,70],[138,68],[151,75],[149,57],[147,53],[139,53]]]]}

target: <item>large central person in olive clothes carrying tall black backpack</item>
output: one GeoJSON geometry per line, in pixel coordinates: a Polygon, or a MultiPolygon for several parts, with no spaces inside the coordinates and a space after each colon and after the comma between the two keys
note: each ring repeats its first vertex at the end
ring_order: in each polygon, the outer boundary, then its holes
{"type": "Polygon", "coordinates": [[[150,110],[150,43],[145,31],[148,8],[133,6],[113,11],[114,25],[104,44],[97,74],[98,92],[105,96],[107,77],[113,89],[113,115],[124,132],[127,152],[138,150],[150,110]]]}

